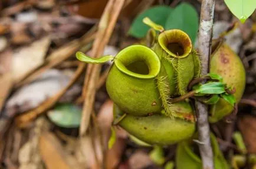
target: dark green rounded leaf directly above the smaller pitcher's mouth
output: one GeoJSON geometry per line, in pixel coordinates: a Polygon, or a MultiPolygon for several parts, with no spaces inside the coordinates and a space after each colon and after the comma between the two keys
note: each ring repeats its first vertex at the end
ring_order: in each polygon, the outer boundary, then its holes
{"type": "Polygon", "coordinates": [[[188,33],[192,43],[194,43],[198,34],[198,26],[198,12],[193,6],[183,2],[168,16],[165,29],[181,29],[188,33]]]}

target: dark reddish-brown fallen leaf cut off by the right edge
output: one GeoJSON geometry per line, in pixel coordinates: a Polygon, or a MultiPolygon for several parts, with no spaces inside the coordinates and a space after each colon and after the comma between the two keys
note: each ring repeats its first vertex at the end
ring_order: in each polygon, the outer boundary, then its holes
{"type": "Polygon", "coordinates": [[[239,130],[244,138],[245,146],[248,153],[256,153],[256,117],[245,115],[239,118],[238,121],[239,130]]]}

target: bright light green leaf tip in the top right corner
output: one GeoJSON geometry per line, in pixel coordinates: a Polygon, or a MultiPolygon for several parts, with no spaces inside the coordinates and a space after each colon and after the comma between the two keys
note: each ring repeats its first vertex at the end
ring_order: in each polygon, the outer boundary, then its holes
{"type": "Polygon", "coordinates": [[[242,23],[254,12],[256,8],[255,0],[224,0],[229,10],[238,18],[242,23]]]}

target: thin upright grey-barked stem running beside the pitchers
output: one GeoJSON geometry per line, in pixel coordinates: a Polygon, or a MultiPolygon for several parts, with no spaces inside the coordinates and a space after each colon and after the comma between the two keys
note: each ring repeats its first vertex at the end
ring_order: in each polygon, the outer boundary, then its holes
{"type": "MultiPolygon", "coordinates": [[[[198,51],[201,55],[202,70],[201,75],[208,73],[209,56],[211,55],[212,25],[214,18],[215,0],[203,0],[201,4],[201,15],[198,35],[198,51]]],[[[202,158],[202,167],[214,169],[214,160],[210,140],[210,129],[208,123],[208,107],[196,102],[198,112],[198,133],[199,150],[202,158]]]]}

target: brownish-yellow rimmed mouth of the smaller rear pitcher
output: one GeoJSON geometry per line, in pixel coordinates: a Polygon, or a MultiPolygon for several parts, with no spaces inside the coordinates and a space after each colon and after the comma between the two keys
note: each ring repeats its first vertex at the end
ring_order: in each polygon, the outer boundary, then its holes
{"type": "Polygon", "coordinates": [[[158,42],[161,48],[174,58],[185,58],[192,50],[192,42],[188,34],[179,29],[160,33],[158,42]]]}

